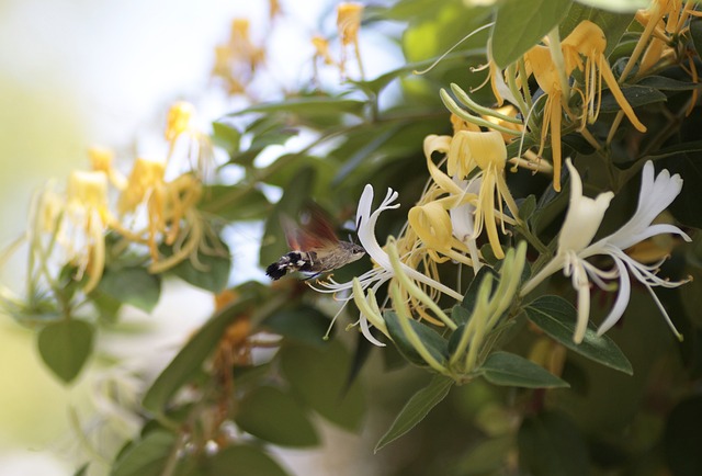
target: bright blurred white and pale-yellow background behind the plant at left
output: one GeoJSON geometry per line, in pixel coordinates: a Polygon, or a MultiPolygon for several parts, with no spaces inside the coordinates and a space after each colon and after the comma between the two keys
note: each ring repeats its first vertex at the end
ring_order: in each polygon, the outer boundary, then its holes
{"type": "MultiPolygon", "coordinates": [[[[281,81],[294,83],[309,76],[307,38],[319,32],[319,11],[327,2],[281,3],[288,20],[270,38],[275,47],[269,68],[281,81]]],[[[204,122],[230,110],[223,94],[203,94],[211,84],[213,48],[226,39],[235,16],[251,20],[254,38],[270,34],[262,27],[267,9],[264,0],[0,0],[0,248],[24,229],[33,191],[86,167],[89,146],[113,147],[125,157],[143,152],[161,134],[166,112],[179,99],[200,106],[204,122]]],[[[333,16],[322,33],[332,29],[333,16]]],[[[372,46],[372,37],[361,38],[372,46]]],[[[396,66],[389,61],[383,56],[366,61],[369,77],[396,66]]],[[[0,269],[2,282],[15,291],[22,288],[23,260],[18,253],[0,269]]],[[[162,303],[155,316],[129,316],[152,330],[133,342],[132,364],[155,354],[167,363],[184,336],[206,318],[208,305],[186,317],[177,309],[207,296],[191,288],[177,294],[183,297],[162,303]]],[[[115,353],[122,348],[111,337],[100,345],[115,353]]],[[[59,385],[43,367],[34,335],[0,315],[0,375],[5,382],[0,392],[0,476],[72,474],[68,407],[80,409],[89,400],[95,367],[91,364],[75,387],[59,385]]],[[[358,444],[349,435],[324,431],[347,446],[358,444]]],[[[287,458],[305,465],[304,456],[287,458]]]]}

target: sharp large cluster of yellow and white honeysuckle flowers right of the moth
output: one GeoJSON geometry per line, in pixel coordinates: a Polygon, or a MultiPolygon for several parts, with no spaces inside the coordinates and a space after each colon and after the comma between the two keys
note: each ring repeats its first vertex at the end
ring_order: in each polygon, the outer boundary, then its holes
{"type": "MultiPolygon", "coordinates": [[[[666,38],[679,34],[689,16],[697,14],[692,8],[692,2],[682,4],[679,1],[654,1],[647,11],[639,12],[636,18],[646,26],[646,31],[638,42],[643,46],[637,46],[636,49],[645,48],[646,54],[641,60],[638,75],[669,61],[670,53],[666,52],[666,47],[656,46],[657,43],[654,42],[660,38],[667,45],[666,38]],[[664,18],[667,19],[665,23],[664,18]],[[655,36],[649,42],[650,35],[655,36]]],[[[574,288],[578,292],[578,322],[574,340],[580,342],[589,319],[591,283],[605,291],[619,288],[616,305],[600,326],[599,332],[602,333],[616,322],[629,303],[631,272],[650,292],[669,326],[681,338],[652,287],[672,287],[687,281],[661,280],[656,275],[660,261],[653,265],[644,264],[624,252],[642,240],[659,234],[678,235],[690,240],[672,225],[652,225],[653,219],[679,194],[682,186],[679,175],[671,177],[664,170],[655,177],[653,165],[647,163],[636,214],[619,231],[590,243],[613,194],[603,193],[597,200],[584,196],[578,171],[568,160],[570,206],[555,253],[533,236],[529,226],[520,219],[519,208],[506,182],[506,166],[509,161],[516,167],[529,168],[534,172],[553,173],[553,188],[559,192],[563,132],[579,132],[596,150],[603,147],[588,132],[588,126],[598,120],[604,84],[620,107],[620,117],[612,127],[619,127],[621,118],[626,116],[636,131],[646,131],[620,87],[631,69],[630,65],[635,64],[637,57],[632,56],[627,69],[616,79],[607,60],[605,48],[607,38],[600,26],[591,21],[582,21],[563,41],[558,37],[557,29],[554,29],[543,38],[543,44],[533,46],[505,70],[495,65],[488,48],[488,78],[498,101],[496,109],[477,104],[455,84],[451,89],[457,102],[446,91],[441,91],[442,100],[452,113],[454,133],[452,136],[426,137],[424,156],[430,179],[419,202],[408,213],[407,226],[399,238],[390,237],[387,245],[381,247],[375,236],[375,224],[381,213],[399,206],[395,203],[397,193],[388,191],[381,205],[372,211],[373,189],[366,185],[359,203],[356,220],[359,239],[373,259],[375,268],[352,282],[338,283],[330,279],[319,283],[319,291],[322,292],[353,292],[352,297],[347,299],[352,298],[358,304],[361,310],[359,325],[369,340],[377,345],[383,344],[369,331],[371,326],[390,337],[386,317],[382,313],[383,306],[375,301],[375,295],[384,283],[389,282],[388,302],[392,302],[386,309],[392,308],[405,318],[414,316],[440,327],[455,329],[455,322],[438,304],[440,295],[462,301],[461,270],[467,267],[477,275],[484,263],[491,260],[502,260],[501,267],[498,267],[501,281],[509,283],[506,284],[509,296],[499,296],[503,301],[500,301],[500,314],[509,307],[505,303],[519,302],[548,275],[563,270],[566,276],[571,277],[574,288]],[[536,99],[532,98],[530,91],[530,78],[540,88],[536,99]],[[509,104],[505,104],[506,101],[509,104]],[[537,114],[533,112],[541,102],[542,120],[537,124],[534,121],[537,114]],[[534,144],[534,149],[526,147],[522,151],[520,146],[516,157],[509,157],[507,146],[520,140],[523,143],[525,135],[535,137],[531,143],[534,144]],[[551,147],[550,161],[543,156],[547,145],[551,147]],[[520,247],[517,254],[510,250],[512,258],[505,261],[500,231],[503,236],[511,235],[507,229],[508,225],[546,259],[542,260],[541,268],[535,270],[536,274],[521,291],[519,283],[513,281],[512,273],[521,273],[525,248],[520,247]],[[484,256],[485,249],[483,252],[478,249],[477,240],[484,231],[492,257],[484,256]],[[614,261],[615,268],[602,271],[586,261],[586,258],[596,254],[608,256],[614,261]],[[442,280],[439,273],[439,265],[448,261],[458,264],[456,280],[451,281],[455,284],[451,286],[445,284],[448,281],[442,280]],[[619,280],[619,286],[605,283],[612,280],[619,280]]],[[[697,80],[693,66],[690,69],[692,80],[697,80]]],[[[495,326],[495,315],[486,316],[479,317],[480,321],[487,328],[495,326]]],[[[476,318],[474,315],[473,319],[476,318]]],[[[406,337],[412,340],[410,333],[406,337]]],[[[467,342],[462,340],[464,341],[467,342]]],[[[420,342],[415,342],[414,345],[418,351],[422,347],[420,342]]],[[[430,356],[427,363],[438,372],[446,372],[431,361],[430,356]]]]}

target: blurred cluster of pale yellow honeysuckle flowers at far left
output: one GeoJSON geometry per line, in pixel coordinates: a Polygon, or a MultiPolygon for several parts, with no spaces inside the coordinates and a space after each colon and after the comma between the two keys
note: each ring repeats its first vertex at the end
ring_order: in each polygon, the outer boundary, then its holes
{"type": "Polygon", "coordinates": [[[165,134],[169,152],[159,159],[136,158],[128,177],[113,166],[111,150],[93,147],[89,150],[91,169],[72,171],[65,192],[50,183],[38,193],[27,235],[39,275],[50,282],[52,263],[70,264],[76,270],[73,279],[87,277],[82,291],[90,293],[105,267],[110,233],[124,238],[123,247],[146,246],[152,273],[196,257],[206,233],[195,207],[202,195],[196,171],[205,168],[212,150],[207,136],[194,126],[193,114],[190,103],[176,103],[165,134]],[[167,166],[183,148],[200,169],[168,180],[167,166]],[[173,247],[174,252],[161,256],[160,243],[173,247]]]}

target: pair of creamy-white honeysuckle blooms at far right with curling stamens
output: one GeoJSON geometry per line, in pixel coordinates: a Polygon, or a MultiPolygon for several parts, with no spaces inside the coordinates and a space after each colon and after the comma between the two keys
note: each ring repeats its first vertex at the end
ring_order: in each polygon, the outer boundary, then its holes
{"type": "Polygon", "coordinates": [[[522,296],[529,294],[544,279],[563,269],[564,274],[570,277],[573,287],[578,292],[578,321],[573,340],[579,343],[585,337],[590,314],[590,280],[602,290],[611,288],[607,281],[619,280],[619,295],[614,306],[598,328],[598,335],[601,336],[619,321],[629,305],[631,297],[629,273],[631,272],[648,290],[668,326],[681,340],[682,336],[675,328],[668,313],[654,293],[653,286],[677,287],[684,284],[687,280],[670,282],[661,279],[656,273],[663,260],[654,264],[644,264],[626,254],[624,249],[660,234],[679,235],[686,241],[691,240],[677,226],[652,225],[654,218],[666,209],[682,190],[682,179],[678,174],[671,177],[665,169],[654,177],[653,162],[646,162],[642,174],[638,206],[634,216],[613,234],[590,245],[602,223],[613,193],[601,193],[595,200],[582,196],[582,182],[578,171],[570,159],[566,160],[566,166],[570,172],[570,203],[558,237],[558,251],[535,276],[524,284],[520,294],[522,296]],[[598,254],[610,257],[614,261],[614,268],[602,271],[586,261],[587,258],[598,254]]]}

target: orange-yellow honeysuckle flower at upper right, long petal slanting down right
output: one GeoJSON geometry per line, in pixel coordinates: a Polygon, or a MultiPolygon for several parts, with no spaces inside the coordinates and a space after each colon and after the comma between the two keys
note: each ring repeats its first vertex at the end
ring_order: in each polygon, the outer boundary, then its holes
{"type": "Polygon", "coordinates": [[[585,77],[585,104],[587,114],[584,114],[582,122],[587,116],[588,122],[592,123],[599,114],[600,103],[602,99],[602,79],[614,95],[616,103],[622,109],[626,117],[632,122],[633,126],[642,132],[646,132],[646,126],[638,121],[634,110],[624,98],[612,70],[604,57],[607,48],[607,38],[602,29],[595,23],[585,20],[580,22],[573,32],[562,43],[563,55],[566,61],[566,71],[568,75],[574,69],[582,71],[585,77]],[[582,61],[585,57],[585,63],[582,61]],[[597,106],[596,104],[597,100],[597,106]]]}

